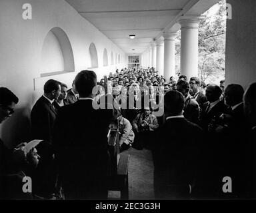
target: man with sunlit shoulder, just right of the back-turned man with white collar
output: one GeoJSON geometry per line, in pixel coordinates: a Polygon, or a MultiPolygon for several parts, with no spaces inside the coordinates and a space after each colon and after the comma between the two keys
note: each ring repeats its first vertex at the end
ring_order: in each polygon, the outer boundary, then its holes
{"type": "Polygon", "coordinates": [[[189,95],[190,87],[187,81],[180,80],[177,82],[177,91],[179,91],[185,99],[185,107],[183,115],[190,122],[194,122],[195,124],[199,123],[199,114],[200,108],[194,99],[192,99],[191,95],[189,95]]]}

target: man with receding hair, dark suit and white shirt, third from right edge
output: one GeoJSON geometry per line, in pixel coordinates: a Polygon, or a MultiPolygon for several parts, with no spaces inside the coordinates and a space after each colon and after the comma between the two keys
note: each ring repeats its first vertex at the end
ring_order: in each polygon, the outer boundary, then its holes
{"type": "Polygon", "coordinates": [[[199,118],[200,125],[206,132],[211,132],[214,122],[222,113],[226,113],[227,107],[224,101],[220,101],[221,88],[217,85],[208,85],[205,96],[207,102],[203,104],[201,116],[199,118]]]}

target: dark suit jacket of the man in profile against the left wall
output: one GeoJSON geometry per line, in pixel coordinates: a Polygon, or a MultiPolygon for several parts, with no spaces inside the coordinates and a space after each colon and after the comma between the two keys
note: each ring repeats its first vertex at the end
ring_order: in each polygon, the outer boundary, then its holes
{"type": "Polygon", "coordinates": [[[31,130],[33,139],[51,142],[53,125],[57,112],[53,105],[41,96],[31,110],[31,130]]]}

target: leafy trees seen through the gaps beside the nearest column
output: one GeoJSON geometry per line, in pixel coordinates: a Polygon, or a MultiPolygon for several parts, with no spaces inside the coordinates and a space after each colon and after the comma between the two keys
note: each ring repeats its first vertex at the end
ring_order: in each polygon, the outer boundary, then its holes
{"type": "MultiPolygon", "coordinates": [[[[218,83],[225,76],[226,1],[221,0],[203,13],[199,23],[199,79],[218,83]]],[[[176,37],[175,72],[180,69],[180,31],[176,37]]]]}

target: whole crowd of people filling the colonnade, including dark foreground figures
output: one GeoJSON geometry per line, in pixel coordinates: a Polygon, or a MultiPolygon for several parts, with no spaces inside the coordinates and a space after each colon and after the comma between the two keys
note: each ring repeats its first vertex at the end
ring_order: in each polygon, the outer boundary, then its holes
{"type": "MultiPolygon", "coordinates": [[[[27,153],[25,144],[8,150],[0,141],[2,198],[24,198],[13,183],[25,175],[33,179],[29,198],[107,198],[116,126],[121,152],[152,151],[155,198],[255,198],[256,83],[245,92],[224,84],[164,79],[154,68],[117,70],[99,82],[81,71],[69,90],[47,81],[31,110],[31,139],[43,141],[27,153]]],[[[0,122],[18,101],[0,88],[0,122]]]]}

